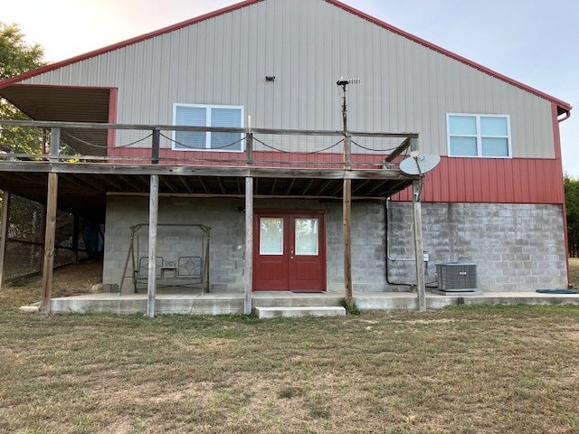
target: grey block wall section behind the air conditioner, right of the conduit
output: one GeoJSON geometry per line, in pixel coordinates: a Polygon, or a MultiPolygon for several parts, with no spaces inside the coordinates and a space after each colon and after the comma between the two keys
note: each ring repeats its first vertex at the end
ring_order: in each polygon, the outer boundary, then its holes
{"type": "MultiPolygon", "coordinates": [[[[390,255],[413,256],[412,203],[390,203],[390,255]]],[[[479,289],[566,288],[563,210],[549,204],[422,203],[426,282],[437,263],[477,264],[479,289]]],[[[391,281],[415,282],[412,262],[390,262],[391,281]],[[410,277],[410,278],[409,278],[410,277]]]]}

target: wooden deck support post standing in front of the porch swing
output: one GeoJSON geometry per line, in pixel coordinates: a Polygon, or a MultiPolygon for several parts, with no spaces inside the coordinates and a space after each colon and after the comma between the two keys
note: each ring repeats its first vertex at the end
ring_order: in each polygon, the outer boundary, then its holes
{"type": "Polygon", "coordinates": [[[147,316],[155,317],[157,300],[157,222],[159,206],[159,177],[151,175],[148,201],[148,276],[147,316]]]}

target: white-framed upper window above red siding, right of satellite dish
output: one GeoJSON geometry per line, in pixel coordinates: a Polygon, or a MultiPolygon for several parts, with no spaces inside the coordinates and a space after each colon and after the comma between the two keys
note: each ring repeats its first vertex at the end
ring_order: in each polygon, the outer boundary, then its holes
{"type": "Polygon", "coordinates": [[[448,114],[449,156],[511,157],[507,115],[448,114]]]}

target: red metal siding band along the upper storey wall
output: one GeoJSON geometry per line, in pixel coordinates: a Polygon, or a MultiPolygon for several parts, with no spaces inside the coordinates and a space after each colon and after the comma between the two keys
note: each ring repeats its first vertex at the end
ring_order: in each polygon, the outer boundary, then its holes
{"type": "MultiPolygon", "coordinates": [[[[150,148],[109,148],[110,162],[150,164],[150,148]],[[142,158],[142,159],[141,159],[142,158]]],[[[254,166],[339,169],[337,153],[303,154],[256,151],[254,166]]],[[[160,150],[160,164],[243,166],[245,153],[160,150]]],[[[353,168],[383,170],[384,156],[353,155],[353,168]]],[[[437,203],[557,203],[564,202],[563,173],[558,159],[441,157],[441,164],[426,175],[423,202],[437,203]]],[[[412,201],[411,189],[395,194],[394,201],[412,201]]]]}

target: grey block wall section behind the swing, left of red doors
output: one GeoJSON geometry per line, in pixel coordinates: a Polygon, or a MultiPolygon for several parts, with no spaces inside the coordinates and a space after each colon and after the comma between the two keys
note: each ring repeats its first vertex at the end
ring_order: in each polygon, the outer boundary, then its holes
{"type": "MultiPolygon", "coordinates": [[[[245,215],[236,212],[242,201],[234,199],[159,198],[158,222],[196,223],[211,228],[210,282],[214,292],[243,290],[245,215]]],[[[105,233],[104,284],[119,284],[128,255],[130,227],[148,222],[147,197],[109,196],[105,233]]],[[[176,262],[179,256],[199,256],[200,231],[187,227],[157,229],[157,255],[176,262]],[[195,254],[191,254],[195,253],[195,254]]],[[[139,252],[147,256],[147,228],[141,231],[139,252]]],[[[129,263],[123,292],[132,292],[129,263]]]]}

